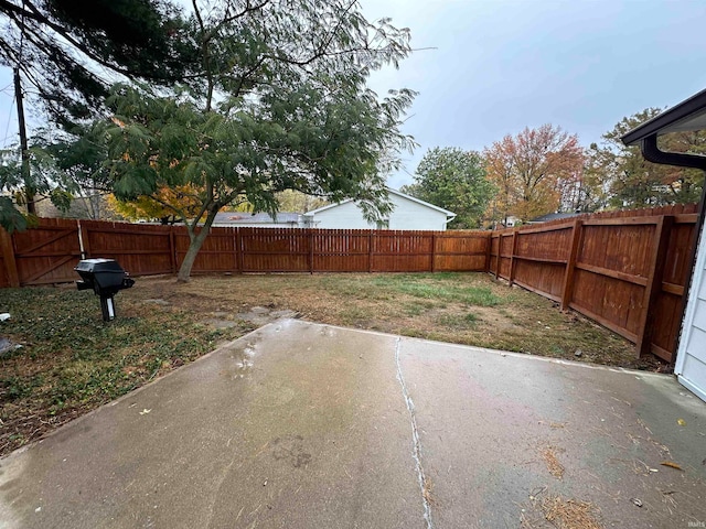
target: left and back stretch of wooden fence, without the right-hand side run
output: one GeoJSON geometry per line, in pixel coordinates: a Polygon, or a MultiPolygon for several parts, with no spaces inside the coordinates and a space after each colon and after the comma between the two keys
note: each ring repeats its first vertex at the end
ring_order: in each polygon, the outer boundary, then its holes
{"type": "MultiPolygon", "coordinates": [[[[117,259],[132,276],[175,273],[189,249],[183,226],[41,219],[0,229],[0,287],[73,281],[82,258],[117,259]]],[[[211,228],[194,273],[485,271],[483,231],[211,228]]]]}

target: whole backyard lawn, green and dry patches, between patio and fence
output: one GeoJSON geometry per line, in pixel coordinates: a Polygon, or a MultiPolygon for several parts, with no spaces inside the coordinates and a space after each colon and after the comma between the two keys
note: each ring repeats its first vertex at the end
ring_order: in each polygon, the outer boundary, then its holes
{"type": "Polygon", "coordinates": [[[104,324],[72,285],[0,290],[0,454],[214,349],[254,326],[254,306],[347,327],[639,369],[632,344],[483,273],[138,278],[104,324]],[[216,328],[215,320],[233,325],[216,328]],[[580,352],[580,356],[577,356],[580,352]]]}

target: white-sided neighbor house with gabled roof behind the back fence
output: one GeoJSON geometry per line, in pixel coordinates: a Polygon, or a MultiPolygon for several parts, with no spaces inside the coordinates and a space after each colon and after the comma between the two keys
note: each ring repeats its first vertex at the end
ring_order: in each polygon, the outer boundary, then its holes
{"type": "Polygon", "coordinates": [[[329,229],[419,229],[446,230],[456,214],[420,201],[397,190],[387,188],[393,210],[379,223],[370,223],[357,203],[352,199],[313,209],[303,214],[307,226],[329,229]]]}

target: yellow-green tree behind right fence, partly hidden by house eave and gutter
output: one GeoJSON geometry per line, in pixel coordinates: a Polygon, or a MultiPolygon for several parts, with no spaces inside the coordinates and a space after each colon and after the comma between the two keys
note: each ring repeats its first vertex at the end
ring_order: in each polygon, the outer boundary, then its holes
{"type": "MultiPolygon", "coordinates": [[[[640,147],[625,147],[620,138],[654,118],[662,110],[646,108],[623,118],[603,134],[600,145],[588,149],[589,165],[602,175],[608,188],[608,205],[616,208],[654,207],[698,202],[704,173],[695,169],[675,168],[648,162],[640,147]]],[[[660,137],[659,147],[671,152],[706,152],[706,132],[676,132],[660,137]]]]}

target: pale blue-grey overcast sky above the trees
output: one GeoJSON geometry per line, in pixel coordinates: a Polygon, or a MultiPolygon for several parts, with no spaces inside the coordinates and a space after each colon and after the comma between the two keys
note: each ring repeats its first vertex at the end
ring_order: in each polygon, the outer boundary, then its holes
{"type": "MultiPolygon", "coordinates": [[[[393,187],[411,182],[434,147],[482,150],[543,123],[600,141],[624,116],[675,105],[706,88],[704,0],[362,0],[391,17],[419,51],[371,79],[384,94],[419,93],[393,187]]],[[[0,140],[17,141],[11,73],[0,72],[0,140]]]]}

